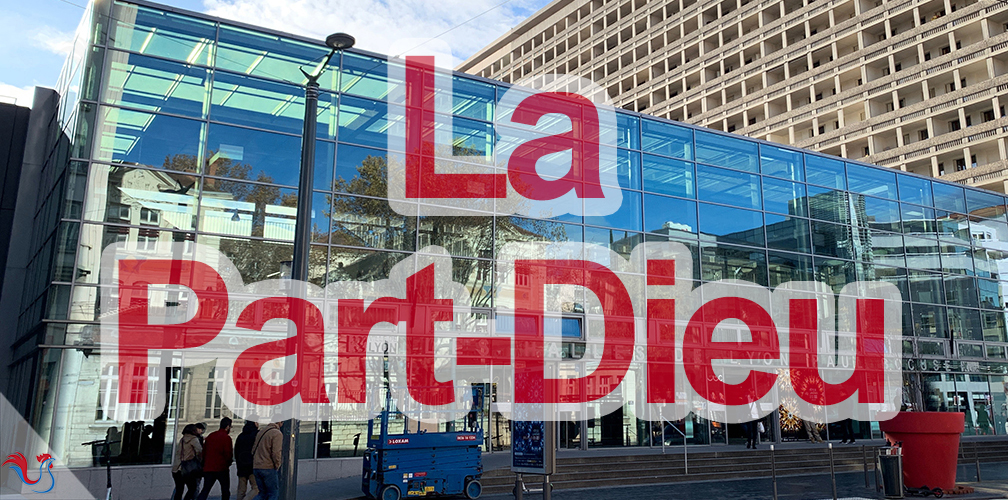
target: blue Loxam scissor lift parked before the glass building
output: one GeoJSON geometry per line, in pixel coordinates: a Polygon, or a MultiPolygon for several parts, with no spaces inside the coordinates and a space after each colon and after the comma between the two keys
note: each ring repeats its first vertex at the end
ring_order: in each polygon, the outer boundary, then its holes
{"type": "MultiPolygon", "coordinates": [[[[482,394],[480,394],[482,398],[482,394]]],[[[480,407],[480,406],[477,406],[480,407]]],[[[483,459],[483,429],[471,418],[472,430],[389,433],[389,398],[379,417],[368,422],[361,489],[370,498],[398,500],[426,495],[465,495],[479,498],[483,459]]]]}

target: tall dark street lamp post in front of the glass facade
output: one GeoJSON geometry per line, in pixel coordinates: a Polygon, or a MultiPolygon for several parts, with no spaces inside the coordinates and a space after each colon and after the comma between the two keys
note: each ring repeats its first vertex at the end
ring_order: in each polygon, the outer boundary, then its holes
{"type": "MultiPolygon", "coordinates": [[[[329,55],[311,73],[301,70],[307,84],[304,86],[304,128],[301,131],[301,171],[297,179],[297,219],[294,222],[294,259],[290,269],[290,279],[299,290],[308,279],[308,252],[311,249],[311,188],[314,183],[316,126],[319,118],[319,78],[325,73],[329,61],[337,50],[354,46],[356,40],[347,33],[333,33],[326,37],[326,45],[331,48],[329,55]]],[[[292,290],[293,291],[293,290],[292,290]]],[[[306,298],[306,297],[305,297],[306,298]]],[[[301,335],[298,332],[298,352],[301,351],[301,335]]],[[[296,359],[300,360],[299,357],[296,359]]],[[[299,420],[290,418],[283,422],[283,462],[286,467],[280,472],[280,491],[284,500],[297,497],[297,435],[299,420]]]]}

